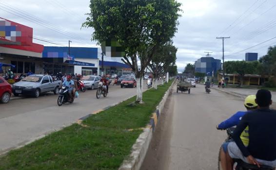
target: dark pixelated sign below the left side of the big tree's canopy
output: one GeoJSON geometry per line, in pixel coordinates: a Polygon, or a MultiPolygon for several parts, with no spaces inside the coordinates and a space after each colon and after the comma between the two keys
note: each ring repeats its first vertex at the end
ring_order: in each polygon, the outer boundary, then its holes
{"type": "Polygon", "coordinates": [[[125,49],[122,48],[116,39],[108,39],[101,43],[101,51],[107,57],[123,57],[125,49]]]}

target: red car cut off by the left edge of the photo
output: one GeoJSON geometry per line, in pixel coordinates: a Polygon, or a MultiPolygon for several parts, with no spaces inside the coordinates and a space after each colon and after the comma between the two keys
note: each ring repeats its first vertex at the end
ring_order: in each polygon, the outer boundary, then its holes
{"type": "Polygon", "coordinates": [[[0,102],[7,103],[11,99],[12,86],[0,77],[0,102]]]}

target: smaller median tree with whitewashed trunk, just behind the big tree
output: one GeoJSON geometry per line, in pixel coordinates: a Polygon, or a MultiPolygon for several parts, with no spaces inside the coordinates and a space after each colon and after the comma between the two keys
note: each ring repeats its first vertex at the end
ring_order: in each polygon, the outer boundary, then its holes
{"type": "Polygon", "coordinates": [[[168,70],[168,67],[175,65],[176,63],[177,48],[172,45],[172,42],[158,48],[154,54],[152,61],[149,64],[149,70],[153,75],[153,87],[157,89],[157,80],[161,75],[164,75],[164,71],[168,70]]]}

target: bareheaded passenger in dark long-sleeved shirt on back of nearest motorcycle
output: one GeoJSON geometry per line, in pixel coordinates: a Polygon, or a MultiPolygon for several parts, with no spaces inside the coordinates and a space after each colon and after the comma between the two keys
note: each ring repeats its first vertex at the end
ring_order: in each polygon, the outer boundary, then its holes
{"type": "MultiPolygon", "coordinates": [[[[257,109],[246,113],[239,121],[226,151],[226,170],[233,170],[233,159],[245,163],[276,167],[276,111],[270,109],[271,92],[260,89],[256,93],[257,109]],[[246,147],[240,136],[249,127],[249,144],[246,147]]],[[[271,169],[265,168],[265,169],[271,169]]]]}

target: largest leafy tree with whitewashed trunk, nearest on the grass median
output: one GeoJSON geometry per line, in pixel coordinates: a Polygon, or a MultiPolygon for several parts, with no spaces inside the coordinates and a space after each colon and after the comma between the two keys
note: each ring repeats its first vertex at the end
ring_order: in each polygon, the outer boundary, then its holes
{"type": "Polygon", "coordinates": [[[137,102],[142,102],[144,69],[157,47],[177,32],[179,7],[176,0],[90,0],[91,12],[82,26],[94,28],[98,44],[114,38],[125,49],[122,61],[136,75],[137,102]]]}

